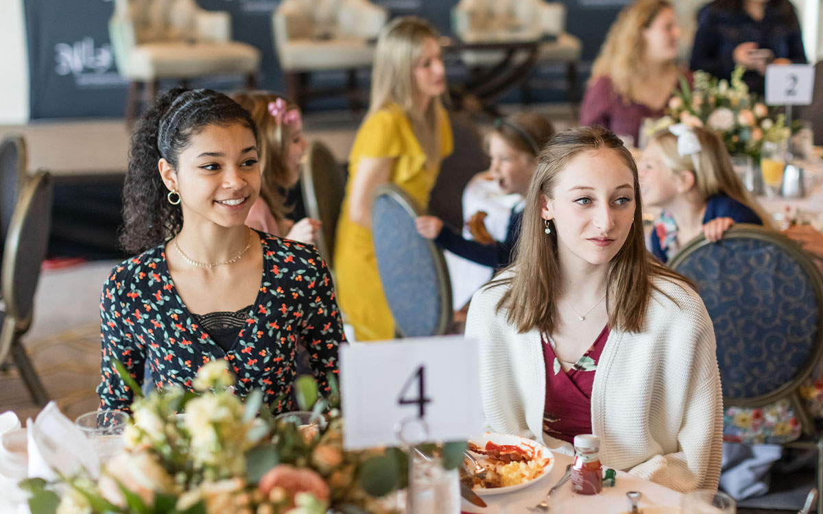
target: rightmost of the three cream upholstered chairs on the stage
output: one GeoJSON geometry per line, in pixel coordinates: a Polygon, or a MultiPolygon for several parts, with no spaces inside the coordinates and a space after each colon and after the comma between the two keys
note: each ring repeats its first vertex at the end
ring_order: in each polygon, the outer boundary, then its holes
{"type": "MultiPolygon", "coordinates": [[[[569,100],[577,102],[577,63],[583,43],[565,32],[565,16],[562,2],[460,0],[452,9],[452,30],[465,43],[546,39],[537,50],[537,64],[565,63],[566,91],[569,100]]],[[[503,51],[464,50],[461,58],[468,67],[483,68],[500,63],[504,55],[503,51]]],[[[528,102],[526,86],[523,100],[528,102]]]]}

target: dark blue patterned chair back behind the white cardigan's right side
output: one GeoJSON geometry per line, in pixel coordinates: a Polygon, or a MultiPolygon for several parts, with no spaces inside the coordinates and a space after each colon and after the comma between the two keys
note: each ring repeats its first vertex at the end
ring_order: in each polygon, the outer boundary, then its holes
{"type": "Polygon", "coordinates": [[[702,235],[669,266],[695,281],[714,323],[727,405],[764,405],[797,390],[821,359],[823,278],[796,243],[736,225],[702,235]]]}

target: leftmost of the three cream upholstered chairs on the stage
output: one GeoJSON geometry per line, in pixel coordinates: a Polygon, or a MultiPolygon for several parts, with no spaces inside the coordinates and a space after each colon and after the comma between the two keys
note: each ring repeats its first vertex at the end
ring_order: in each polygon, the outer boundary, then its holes
{"type": "Polygon", "coordinates": [[[181,81],[217,74],[242,74],[253,86],[260,51],[231,40],[228,12],[206,11],[194,0],[114,0],[109,19],[114,61],[131,81],[126,118],[131,119],[147,86],[148,100],[163,79],[181,81]]]}

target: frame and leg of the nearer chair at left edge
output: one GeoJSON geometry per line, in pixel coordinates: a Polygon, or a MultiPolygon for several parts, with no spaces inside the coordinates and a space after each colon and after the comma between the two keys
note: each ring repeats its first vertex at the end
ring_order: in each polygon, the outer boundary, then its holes
{"type": "MultiPolygon", "coordinates": [[[[49,187],[51,179],[51,174],[41,170],[29,178],[21,189],[14,215],[12,215],[12,223],[9,225],[3,251],[2,268],[0,268],[0,273],[2,273],[0,282],[2,282],[2,295],[5,301],[5,312],[2,327],[0,327],[0,363],[5,361],[9,353],[12,354],[26,387],[38,405],[45,405],[49,401],[49,396],[42,382],[40,382],[40,377],[37,376],[34,367],[31,365],[26,349],[20,340],[20,337],[31,326],[34,309],[32,308],[28,313],[21,312],[21,306],[18,303],[20,299],[16,297],[14,283],[18,275],[16,267],[18,262],[17,253],[20,250],[21,239],[24,237],[24,225],[35,201],[35,194],[40,191],[40,188],[49,187]]],[[[48,237],[48,234],[45,234],[44,237],[48,237]]]]}

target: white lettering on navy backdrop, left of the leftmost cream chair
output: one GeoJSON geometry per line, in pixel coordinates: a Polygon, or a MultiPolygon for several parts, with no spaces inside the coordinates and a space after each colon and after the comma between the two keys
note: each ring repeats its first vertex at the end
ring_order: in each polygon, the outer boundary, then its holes
{"type": "Polygon", "coordinates": [[[77,86],[119,86],[126,83],[114,69],[111,44],[97,47],[91,37],[74,44],[55,44],[54,60],[54,72],[59,76],[74,76],[77,86]]]}

